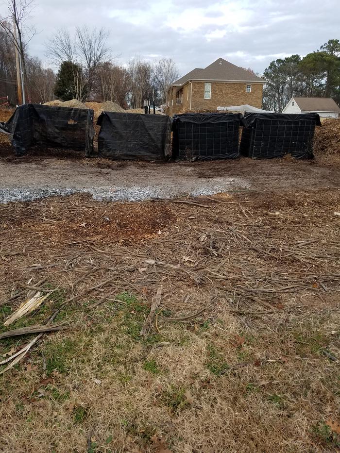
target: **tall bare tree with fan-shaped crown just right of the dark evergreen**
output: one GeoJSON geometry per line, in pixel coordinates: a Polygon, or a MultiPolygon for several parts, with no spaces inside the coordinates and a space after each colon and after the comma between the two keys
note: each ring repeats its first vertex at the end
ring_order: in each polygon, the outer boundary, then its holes
{"type": "Polygon", "coordinates": [[[90,32],[86,26],[77,28],[78,43],[80,57],[84,61],[85,72],[87,75],[88,93],[91,95],[93,81],[96,75],[96,70],[109,54],[109,49],[106,47],[108,33],[103,28],[97,30],[93,28],[90,32]]]}

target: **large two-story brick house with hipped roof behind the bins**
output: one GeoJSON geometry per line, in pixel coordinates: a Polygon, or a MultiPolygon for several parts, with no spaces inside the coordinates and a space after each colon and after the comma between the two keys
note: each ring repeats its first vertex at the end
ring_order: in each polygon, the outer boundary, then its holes
{"type": "Polygon", "coordinates": [[[193,69],[170,86],[165,113],[242,104],[261,108],[265,83],[255,74],[218,58],[206,68],[193,69]]]}

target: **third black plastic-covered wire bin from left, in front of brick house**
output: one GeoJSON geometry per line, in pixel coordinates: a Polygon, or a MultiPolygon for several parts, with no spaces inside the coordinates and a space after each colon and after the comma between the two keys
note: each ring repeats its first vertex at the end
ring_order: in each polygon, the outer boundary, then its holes
{"type": "Polygon", "coordinates": [[[172,157],[186,160],[235,159],[243,115],[184,113],[174,115],[172,157]]]}

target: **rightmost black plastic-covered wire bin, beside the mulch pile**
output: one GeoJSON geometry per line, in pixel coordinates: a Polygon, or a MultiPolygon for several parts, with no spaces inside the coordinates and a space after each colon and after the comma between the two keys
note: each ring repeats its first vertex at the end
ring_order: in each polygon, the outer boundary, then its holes
{"type": "Polygon", "coordinates": [[[296,159],[312,159],[317,113],[249,113],[244,117],[240,153],[254,159],[270,159],[291,154],[296,159]]]}

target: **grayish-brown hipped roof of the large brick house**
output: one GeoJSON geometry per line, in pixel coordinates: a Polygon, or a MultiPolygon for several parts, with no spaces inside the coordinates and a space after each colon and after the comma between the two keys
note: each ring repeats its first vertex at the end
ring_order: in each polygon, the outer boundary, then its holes
{"type": "Polygon", "coordinates": [[[255,74],[233,65],[223,58],[218,58],[214,63],[205,67],[204,69],[193,69],[185,76],[174,82],[174,85],[183,85],[188,80],[218,80],[226,82],[262,82],[264,79],[257,77],[255,74]]]}

